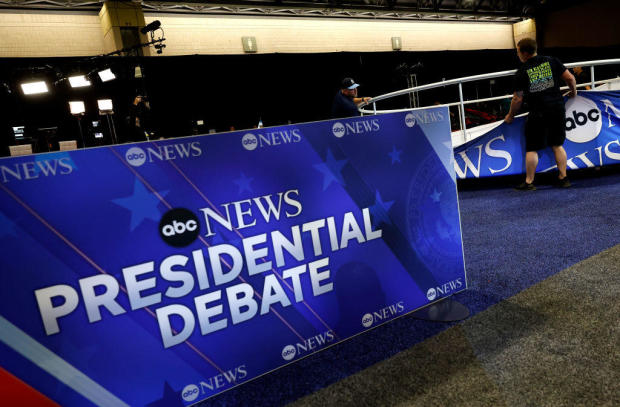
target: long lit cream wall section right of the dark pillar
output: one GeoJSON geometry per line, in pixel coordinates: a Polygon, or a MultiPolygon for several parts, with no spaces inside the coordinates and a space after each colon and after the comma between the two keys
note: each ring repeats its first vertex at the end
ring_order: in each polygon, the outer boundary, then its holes
{"type": "Polygon", "coordinates": [[[242,36],[254,36],[259,53],[392,51],[391,37],[403,51],[514,48],[511,24],[425,21],[193,16],[146,14],[160,20],[167,55],[242,53],[242,36]]]}

